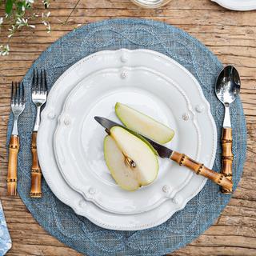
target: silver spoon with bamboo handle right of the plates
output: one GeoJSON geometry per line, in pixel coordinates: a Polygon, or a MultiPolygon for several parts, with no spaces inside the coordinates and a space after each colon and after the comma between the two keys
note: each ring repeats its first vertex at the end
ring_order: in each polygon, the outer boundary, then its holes
{"type": "MultiPolygon", "coordinates": [[[[226,66],[218,74],[215,93],[225,106],[225,116],[222,127],[222,171],[221,173],[232,181],[232,128],[230,122],[230,104],[240,92],[240,77],[234,66],[226,66]]],[[[222,189],[222,193],[230,194],[232,190],[222,189]]]]}

